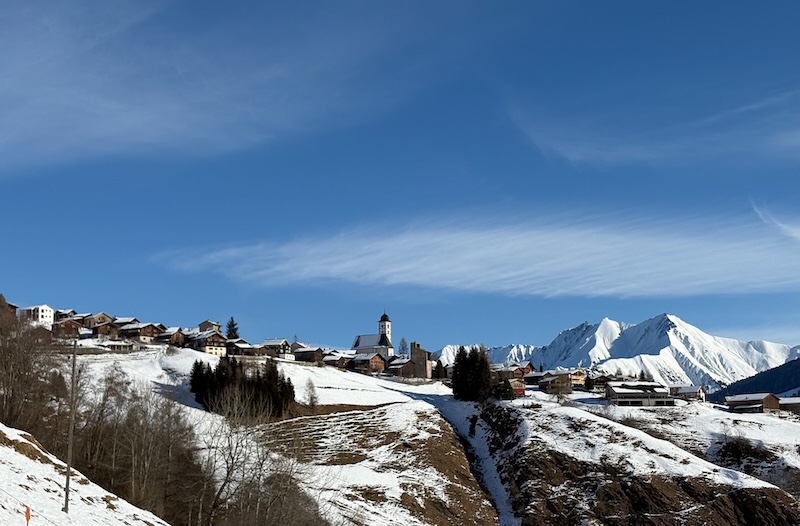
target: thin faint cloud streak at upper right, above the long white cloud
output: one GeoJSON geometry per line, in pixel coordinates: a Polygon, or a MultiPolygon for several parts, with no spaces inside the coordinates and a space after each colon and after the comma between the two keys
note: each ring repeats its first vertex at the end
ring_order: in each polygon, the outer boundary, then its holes
{"type": "Polygon", "coordinates": [[[800,91],[793,90],[695,120],[646,128],[603,125],[597,115],[585,121],[553,117],[519,105],[511,105],[508,113],[543,153],[574,164],[680,164],[742,154],[796,162],[798,106],[800,91]]]}

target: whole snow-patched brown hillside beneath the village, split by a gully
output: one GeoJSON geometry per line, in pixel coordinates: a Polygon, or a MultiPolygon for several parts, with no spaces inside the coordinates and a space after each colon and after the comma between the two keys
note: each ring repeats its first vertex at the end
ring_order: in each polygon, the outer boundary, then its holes
{"type": "MultiPolygon", "coordinates": [[[[207,429],[213,415],[198,410],[187,391],[195,359],[217,360],[155,348],[82,357],[92,374],[118,363],[182,401],[198,429],[207,429]]],[[[594,395],[576,393],[563,405],[538,391],[487,409],[453,400],[440,383],[404,384],[291,362],[280,367],[300,401],[311,380],[320,414],[275,422],[252,436],[289,462],[303,493],[334,523],[617,525],[653,514],[658,524],[800,521],[797,502],[778,489],[795,493],[794,478],[778,475],[800,466],[796,419],[742,418],[705,404],[617,414],[594,395]],[[337,410],[342,404],[351,410],[337,410]],[[639,429],[648,422],[658,427],[639,429]],[[726,429],[763,444],[773,461],[736,466],[715,457],[726,429]]]]}

